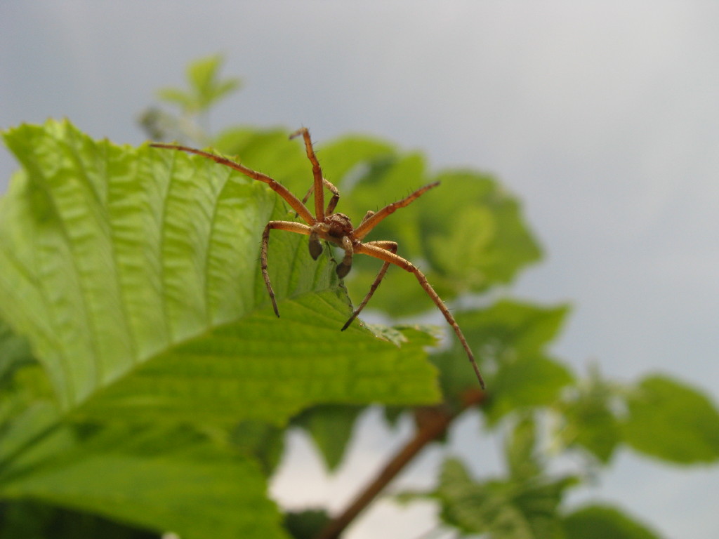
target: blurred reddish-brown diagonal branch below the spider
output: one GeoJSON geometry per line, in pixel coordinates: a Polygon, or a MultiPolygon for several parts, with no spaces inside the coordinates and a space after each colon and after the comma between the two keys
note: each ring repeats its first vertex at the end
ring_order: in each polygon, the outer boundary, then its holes
{"type": "Polygon", "coordinates": [[[456,412],[451,412],[446,405],[418,408],[415,418],[418,423],[418,430],[414,437],[405,444],[395,456],[385,464],[375,479],[367,484],[362,492],[357,495],[354,501],[341,515],[331,520],[318,535],[317,539],[337,539],[344,532],[345,528],[354,520],[360,512],[370,505],[377,494],[392,481],[402,469],[411,462],[419,451],[431,441],[442,436],[449,425],[468,407],[479,405],[485,400],[486,394],[480,390],[471,390],[463,395],[462,406],[456,412]]]}

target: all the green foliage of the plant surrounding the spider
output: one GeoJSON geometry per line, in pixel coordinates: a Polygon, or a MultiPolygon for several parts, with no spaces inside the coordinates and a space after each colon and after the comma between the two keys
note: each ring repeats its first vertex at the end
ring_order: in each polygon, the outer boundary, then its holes
{"type": "MultiPolygon", "coordinates": [[[[220,63],[191,65],[189,91],[160,94],[180,118],[155,109],[145,127],[240,155],[304,193],[311,168],[286,132],[210,137],[195,121],[237,88],[220,63]]],[[[435,328],[357,321],[339,332],[376,261],[357,257],[343,283],[331,253],[314,262],[305,236],[273,234],[275,318],[259,239],[270,218],[293,214],[266,185],[201,157],[94,141],[68,121],[4,139],[22,170],[0,201],[0,538],[319,537],[326,512],[283,517],[267,498],[284,430],[305,429],[333,469],[377,402],[388,418],[414,413],[419,433],[439,418],[428,441],[465,413],[503,436],[502,476],[475,478],[448,457],[434,489],[400,496],[433,499],[442,525],[463,535],[655,538],[623,510],[567,507],[586,474],[557,474],[554,459],[578,453],[589,469],[625,448],[668,463],[719,459],[719,413],[701,392],[659,374],[633,384],[577,375],[549,351],[566,305],[490,300],[540,249],[517,199],[487,175],[433,175],[422,155],[367,137],[320,153],[355,222],[442,181],[372,238],[398,241],[463,306],[482,394],[454,340],[425,350],[435,328]]],[[[434,305],[390,271],[370,307],[401,316],[434,305]]]]}

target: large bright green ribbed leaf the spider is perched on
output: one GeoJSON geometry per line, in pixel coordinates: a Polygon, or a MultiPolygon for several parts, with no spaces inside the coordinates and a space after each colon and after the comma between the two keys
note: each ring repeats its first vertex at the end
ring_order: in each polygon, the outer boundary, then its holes
{"type": "MultiPolygon", "coordinates": [[[[436,400],[420,346],[355,323],[334,263],[263,185],[180,152],[94,142],[68,122],[5,134],[24,167],[0,203],[0,318],[63,410],[138,420],[261,418],[317,402],[436,400]]],[[[285,141],[285,144],[290,144],[285,141]]],[[[250,164],[251,165],[251,164],[250,164]]]]}

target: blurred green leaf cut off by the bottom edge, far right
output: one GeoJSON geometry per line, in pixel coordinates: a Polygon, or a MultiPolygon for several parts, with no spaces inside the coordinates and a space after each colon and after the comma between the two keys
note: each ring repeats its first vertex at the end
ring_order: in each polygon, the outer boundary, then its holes
{"type": "Polygon", "coordinates": [[[659,535],[606,505],[590,505],[564,517],[567,539],[659,539],[659,535]]]}

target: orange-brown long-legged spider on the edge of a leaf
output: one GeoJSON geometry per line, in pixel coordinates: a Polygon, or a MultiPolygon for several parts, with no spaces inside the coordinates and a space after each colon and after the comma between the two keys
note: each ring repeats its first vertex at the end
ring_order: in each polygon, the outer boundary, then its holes
{"type": "Polygon", "coordinates": [[[256,172],[255,170],[249,169],[244,165],[240,165],[238,162],[226,159],[225,157],[221,157],[210,152],[203,152],[201,149],[180,146],[178,144],[153,143],[150,144],[150,146],[164,149],[178,149],[183,152],[201,155],[202,157],[206,157],[215,162],[218,162],[220,165],[225,165],[226,167],[230,167],[234,170],[237,170],[238,172],[242,172],[242,174],[244,174],[248,178],[252,178],[253,180],[258,180],[260,182],[266,183],[273,191],[275,191],[275,193],[278,193],[278,195],[284,198],[294,211],[296,211],[296,216],[300,216],[307,223],[303,224],[297,223],[295,221],[270,221],[269,223],[267,223],[267,226],[265,226],[265,230],[262,232],[260,266],[262,268],[262,277],[264,278],[265,285],[267,286],[267,292],[270,294],[270,300],[272,301],[273,310],[275,310],[275,315],[279,316],[280,311],[278,310],[277,301],[275,300],[275,292],[273,290],[272,284],[270,283],[270,274],[267,272],[267,245],[270,241],[270,230],[286,230],[289,232],[296,232],[297,234],[305,234],[306,236],[310,236],[309,251],[311,257],[315,260],[322,252],[321,240],[329,241],[330,243],[341,247],[344,250],[344,257],[342,258],[342,262],[339,262],[336,267],[337,275],[340,278],[345,277],[349,273],[349,270],[352,269],[352,257],[354,256],[354,254],[368,254],[370,255],[370,257],[375,257],[382,260],[382,267],[380,268],[380,272],[377,273],[377,277],[375,277],[374,282],[372,282],[372,285],[370,286],[370,291],[367,292],[365,299],[363,299],[362,303],[360,303],[359,306],[354,309],[352,315],[349,317],[349,320],[347,320],[347,322],[344,323],[344,326],[342,326],[341,331],[347,329],[352,323],[352,321],[354,321],[354,318],[357,318],[357,315],[359,315],[362,309],[365,308],[365,305],[367,305],[367,302],[370,300],[370,298],[372,298],[372,295],[375,293],[375,290],[377,290],[377,287],[380,285],[380,282],[382,282],[383,277],[385,277],[385,273],[387,272],[390,264],[395,264],[395,266],[399,266],[403,270],[412,273],[417,278],[419,285],[424,289],[425,292],[427,292],[431,300],[434,301],[434,304],[437,306],[437,308],[441,310],[441,313],[444,315],[444,318],[446,319],[447,323],[452,326],[452,329],[454,329],[454,333],[457,334],[457,338],[459,338],[459,342],[462,343],[464,351],[467,352],[467,357],[470,359],[472,368],[475,370],[477,380],[479,380],[480,386],[482,387],[482,389],[484,389],[484,379],[482,378],[482,374],[480,374],[479,367],[477,367],[477,362],[475,361],[475,356],[472,354],[470,345],[467,344],[467,339],[464,338],[464,334],[462,334],[462,330],[459,328],[459,325],[454,320],[454,316],[452,316],[452,313],[449,312],[449,309],[446,307],[446,305],[444,305],[444,302],[441,300],[441,298],[439,298],[439,295],[437,295],[437,292],[434,291],[434,288],[431,287],[424,274],[407,259],[404,259],[397,254],[398,244],[396,244],[395,241],[362,241],[363,239],[365,239],[365,236],[367,236],[367,234],[369,234],[370,231],[372,231],[372,229],[374,229],[375,226],[380,223],[380,221],[382,221],[385,217],[389,216],[390,213],[394,213],[398,208],[404,208],[413,201],[416,201],[416,199],[419,198],[421,195],[439,185],[439,182],[425,185],[424,187],[416,190],[414,193],[411,193],[411,195],[408,195],[405,198],[401,199],[400,201],[388,204],[388,206],[385,206],[380,211],[367,211],[365,217],[362,218],[362,222],[359,224],[359,226],[357,226],[357,228],[354,228],[352,226],[352,222],[349,221],[349,217],[344,215],[344,213],[334,213],[334,208],[339,202],[339,190],[337,190],[334,185],[329,183],[329,181],[323,177],[322,169],[319,165],[319,161],[317,160],[314,149],[312,147],[312,140],[310,138],[308,129],[303,127],[302,129],[298,129],[298,131],[294,132],[293,134],[290,134],[290,139],[296,137],[303,138],[307,158],[312,164],[313,183],[302,200],[298,199],[295,195],[290,193],[290,191],[285,188],[284,185],[278,183],[278,181],[276,180],[273,180],[273,178],[262,174],[262,172],[256,172]],[[326,188],[327,190],[329,190],[330,193],[332,193],[332,196],[326,208],[324,207],[324,188],[326,188]],[[305,206],[305,203],[308,201],[312,193],[314,193],[315,195],[314,216],[305,206]]]}

